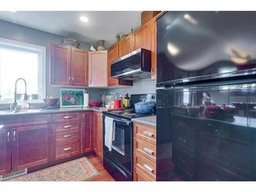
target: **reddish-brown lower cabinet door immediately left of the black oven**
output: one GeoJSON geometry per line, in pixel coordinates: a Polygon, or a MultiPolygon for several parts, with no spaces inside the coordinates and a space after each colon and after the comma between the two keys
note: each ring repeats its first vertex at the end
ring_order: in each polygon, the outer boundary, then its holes
{"type": "Polygon", "coordinates": [[[93,112],[93,150],[103,161],[103,127],[102,113],[93,112]]]}

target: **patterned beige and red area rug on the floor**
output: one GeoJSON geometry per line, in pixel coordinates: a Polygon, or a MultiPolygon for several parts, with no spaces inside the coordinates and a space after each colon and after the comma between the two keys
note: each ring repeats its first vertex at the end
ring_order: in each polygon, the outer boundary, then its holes
{"type": "Polygon", "coordinates": [[[99,172],[89,159],[82,157],[9,179],[8,181],[86,181],[97,175],[99,175],[99,172]]]}

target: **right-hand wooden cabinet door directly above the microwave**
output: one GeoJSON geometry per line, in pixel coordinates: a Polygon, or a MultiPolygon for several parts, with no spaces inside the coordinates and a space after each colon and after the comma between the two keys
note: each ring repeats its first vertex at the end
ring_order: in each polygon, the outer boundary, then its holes
{"type": "Polygon", "coordinates": [[[151,50],[151,21],[142,25],[133,31],[133,48],[135,51],[139,48],[151,50]]]}

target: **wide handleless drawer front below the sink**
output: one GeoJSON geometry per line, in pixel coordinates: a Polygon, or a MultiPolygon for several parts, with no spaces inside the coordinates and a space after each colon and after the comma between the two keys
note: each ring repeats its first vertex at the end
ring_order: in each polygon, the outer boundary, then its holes
{"type": "Polygon", "coordinates": [[[9,117],[0,117],[0,124],[4,125],[4,129],[48,123],[51,123],[50,114],[13,115],[9,117]]]}

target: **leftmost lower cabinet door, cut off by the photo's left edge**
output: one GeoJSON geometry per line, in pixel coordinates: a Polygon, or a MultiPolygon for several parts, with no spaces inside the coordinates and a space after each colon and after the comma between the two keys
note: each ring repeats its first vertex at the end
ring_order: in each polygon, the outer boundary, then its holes
{"type": "Polygon", "coordinates": [[[0,130],[0,175],[11,172],[11,129],[0,130]]]}

